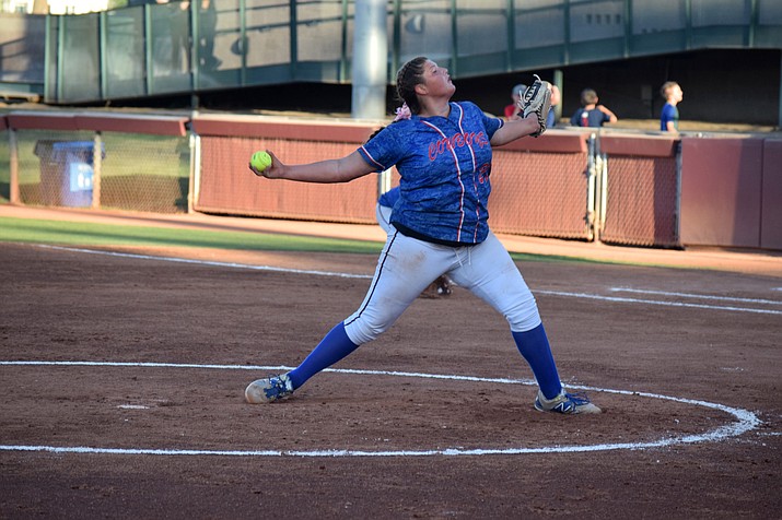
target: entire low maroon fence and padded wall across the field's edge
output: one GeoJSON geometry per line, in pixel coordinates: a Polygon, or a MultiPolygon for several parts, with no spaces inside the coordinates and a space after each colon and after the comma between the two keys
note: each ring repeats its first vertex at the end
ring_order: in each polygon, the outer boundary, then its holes
{"type": "MultiPolygon", "coordinates": [[[[347,155],[385,121],[38,110],[0,121],[0,200],[16,204],[374,225],[378,192],[398,182],[395,172],[346,185],[272,181],[247,168],[262,149],[288,163],[347,155]],[[74,186],[80,168],[91,179],[74,186]],[[71,189],[89,194],[63,197],[71,189]]],[[[497,233],[782,249],[779,137],[593,130],[494,150],[497,233]]]]}

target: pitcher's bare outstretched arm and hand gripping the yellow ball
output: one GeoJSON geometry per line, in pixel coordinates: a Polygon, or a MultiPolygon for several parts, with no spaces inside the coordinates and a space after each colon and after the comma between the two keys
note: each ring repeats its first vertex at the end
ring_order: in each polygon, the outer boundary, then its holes
{"type": "Polygon", "coordinates": [[[269,152],[271,165],[264,172],[249,167],[255,175],[269,179],[297,180],[300,182],[348,182],[376,170],[366,161],[353,152],[342,158],[318,161],[310,164],[283,164],[277,156],[269,152]]]}

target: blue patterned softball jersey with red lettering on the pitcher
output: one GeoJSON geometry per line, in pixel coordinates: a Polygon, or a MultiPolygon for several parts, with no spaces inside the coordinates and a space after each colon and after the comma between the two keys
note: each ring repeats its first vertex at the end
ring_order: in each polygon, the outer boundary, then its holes
{"type": "Polygon", "coordinates": [[[502,126],[502,119],[472,103],[451,103],[448,117],[412,116],[361,146],[359,153],[377,172],[394,165],[399,172],[392,224],[439,244],[483,241],[489,234],[489,141],[502,126]]]}

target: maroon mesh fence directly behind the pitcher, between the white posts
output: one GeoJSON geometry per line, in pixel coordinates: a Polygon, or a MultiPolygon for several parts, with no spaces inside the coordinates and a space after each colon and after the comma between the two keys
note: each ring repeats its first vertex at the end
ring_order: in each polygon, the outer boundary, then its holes
{"type": "MultiPolygon", "coordinates": [[[[247,168],[257,150],[290,164],[337,158],[353,152],[377,128],[257,117],[196,117],[200,184],[196,210],[279,218],[375,222],[378,179],[348,185],[285,182],[258,178],[247,168]]],[[[586,137],[550,131],[494,150],[489,206],[492,229],[560,238],[588,238],[586,137]]],[[[392,185],[398,175],[392,173],[392,185]]]]}

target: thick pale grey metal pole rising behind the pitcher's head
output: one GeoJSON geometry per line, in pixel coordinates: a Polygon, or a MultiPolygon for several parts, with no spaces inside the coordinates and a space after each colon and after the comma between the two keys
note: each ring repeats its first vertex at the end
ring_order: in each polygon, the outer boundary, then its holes
{"type": "Polygon", "coordinates": [[[353,26],[351,116],[382,119],[386,113],[388,70],[386,1],[358,0],[353,26]]]}

